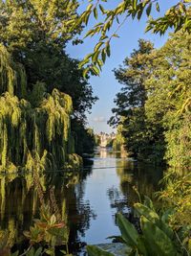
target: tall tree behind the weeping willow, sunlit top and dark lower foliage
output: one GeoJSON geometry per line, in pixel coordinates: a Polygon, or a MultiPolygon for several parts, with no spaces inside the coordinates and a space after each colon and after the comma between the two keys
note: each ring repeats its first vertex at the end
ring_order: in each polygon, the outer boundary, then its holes
{"type": "MultiPolygon", "coordinates": [[[[79,25],[70,30],[77,19],[77,1],[7,0],[0,2],[0,8],[0,42],[24,66],[30,96],[58,88],[73,98],[74,117],[84,120],[96,97],[78,69],[79,61],[65,51],[69,40],[77,42],[82,29],[79,25]],[[37,88],[38,82],[44,88],[37,88]]],[[[32,97],[28,100],[35,104],[32,97]]]]}

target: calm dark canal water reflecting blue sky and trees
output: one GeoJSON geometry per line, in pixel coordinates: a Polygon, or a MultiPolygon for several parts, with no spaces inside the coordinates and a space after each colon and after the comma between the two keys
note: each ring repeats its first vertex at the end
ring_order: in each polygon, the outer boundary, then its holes
{"type": "MultiPolygon", "coordinates": [[[[47,201],[49,191],[54,191],[58,211],[67,223],[70,252],[81,256],[86,255],[86,244],[109,243],[107,237],[119,234],[115,216],[128,214],[138,201],[134,188],[152,197],[161,175],[160,169],[140,165],[124,153],[99,149],[82,171],[40,175],[40,184],[47,201]]],[[[23,231],[39,218],[35,187],[32,174],[0,176],[0,232],[11,234],[15,249],[24,246],[23,231]]]]}

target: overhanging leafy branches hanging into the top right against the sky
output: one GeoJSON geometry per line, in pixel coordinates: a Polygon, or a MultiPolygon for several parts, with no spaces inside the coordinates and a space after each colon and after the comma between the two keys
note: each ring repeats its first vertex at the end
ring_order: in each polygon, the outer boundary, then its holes
{"type": "MultiPolygon", "coordinates": [[[[126,23],[128,18],[140,20],[143,14],[147,16],[147,31],[163,35],[169,28],[175,32],[182,29],[184,32],[191,32],[191,1],[181,0],[172,6],[164,14],[160,14],[159,5],[161,1],[156,0],[122,0],[113,9],[108,9],[109,0],[90,0],[87,9],[82,12],[75,26],[89,23],[90,17],[94,15],[96,24],[85,35],[98,36],[93,53],[87,55],[81,62],[81,66],[86,65],[84,76],[91,71],[98,75],[101,66],[106,58],[110,57],[110,43],[120,27],[126,23]],[[157,10],[160,16],[157,19],[152,17],[152,13],[157,10]],[[89,63],[91,63],[89,65],[89,63]]],[[[74,27],[73,27],[74,29],[74,27]]]]}

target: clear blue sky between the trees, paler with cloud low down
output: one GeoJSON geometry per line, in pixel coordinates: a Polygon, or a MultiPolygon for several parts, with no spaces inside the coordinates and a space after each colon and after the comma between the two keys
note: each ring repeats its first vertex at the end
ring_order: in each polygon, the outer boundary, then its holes
{"type": "MultiPolygon", "coordinates": [[[[108,2],[112,3],[112,0],[108,2]]],[[[116,2],[119,2],[118,0],[116,2]]],[[[114,2],[113,2],[114,3],[114,2]]],[[[176,4],[177,1],[161,0],[160,12],[165,12],[170,6],[176,4]]],[[[81,6],[83,10],[84,5],[81,6]]],[[[109,4],[112,8],[112,4],[109,4]]],[[[155,13],[154,13],[155,14],[155,13]]],[[[94,18],[90,21],[92,25],[94,18]]],[[[94,128],[95,132],[105,131],[111,132],[113,128],[107,125],[107,121],[112,116],[112,108],[115,106],[114,99],[117,92],[120,90],[121,85],[116,81],[113,70],[122,64],[124,58],[129,56],[133,49],[138,48],[138,39],[144,38],[151,40],[156,48],[161,47],[166,39],[167,35],[159,36],[152,35],[151,33],[144,33],[146,26],[146,18],[143,17],[139,22],[137,20],[127,20],[123,27],[118,32],[119,38],[115,38],[111,45],[111,58],[108,58],[102,73],[99,77],[91,77],[90,83],[93,86],[94,94],[98,96],[99,100],[96,105],[93,106],[92,113],[88,115],[89,127],[94,128]]],[[[81,35],[81,37],[85,32],[81,35]]],[[[87,54],[91,53],[96,38],[86,38],[82,45],[68,45],[67,52],[72,58],[84,58],[87,54]]]]}

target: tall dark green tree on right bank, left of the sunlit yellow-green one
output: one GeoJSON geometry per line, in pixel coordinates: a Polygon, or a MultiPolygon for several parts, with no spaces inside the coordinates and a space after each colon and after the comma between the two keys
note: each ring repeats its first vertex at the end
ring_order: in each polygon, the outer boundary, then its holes
{"type": "Polygon", "coordinates": [[[124,145],[129,153],[138,159],[160,162],[164,147],[163,128],[149,122],[145,114],[148,98],[145,81],[152,72],[153,53],[153,44],[140,39],[138,50],[134,50],[129,58],[125,58],[124,65],[115,70],[117,81],[123,87],[117,93],[117,107],[113,108],[115,116],[109,123],[122,126],[124,145]]]}

